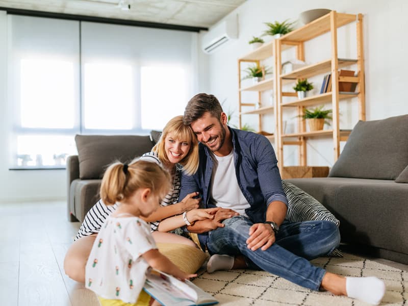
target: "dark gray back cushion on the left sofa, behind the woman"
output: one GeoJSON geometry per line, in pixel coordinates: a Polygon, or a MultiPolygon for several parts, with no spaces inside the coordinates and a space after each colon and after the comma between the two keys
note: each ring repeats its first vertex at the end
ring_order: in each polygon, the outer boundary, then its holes
{"type": "Polygon", "coordinates": [[[76,135],[75,142],[81,180],[100,179],[115,160],[130,162],[153,146],[149,136],[137,135],[76,135]]]}

